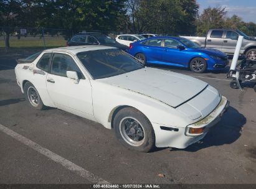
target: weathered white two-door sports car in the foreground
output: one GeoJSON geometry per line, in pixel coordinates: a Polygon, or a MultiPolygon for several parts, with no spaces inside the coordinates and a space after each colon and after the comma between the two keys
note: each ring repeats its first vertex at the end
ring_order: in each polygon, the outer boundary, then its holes
{"type": "Polygon", "coordinates": [[[44,50],[15,68],[36,109],[55,107],[114,129],[130,149],[184,149],[220,120],[229,101],[204,81],[141,65],[114,47],[44,50]]]}

